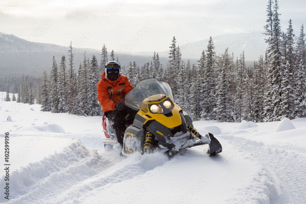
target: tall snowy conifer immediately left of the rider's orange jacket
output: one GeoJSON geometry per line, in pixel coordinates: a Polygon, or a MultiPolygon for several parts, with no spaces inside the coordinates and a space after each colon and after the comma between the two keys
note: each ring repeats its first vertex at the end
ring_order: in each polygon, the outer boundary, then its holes
{"type": "Polygon", "coordinates": [[[89,72],[89,100],[88,109],[90,116],[101,115],[101,106],[98,101],[97,84],[99,82],[98,70],[99,65],[95,55],[92,56],[90,61],[90,72],[89,72]]]}

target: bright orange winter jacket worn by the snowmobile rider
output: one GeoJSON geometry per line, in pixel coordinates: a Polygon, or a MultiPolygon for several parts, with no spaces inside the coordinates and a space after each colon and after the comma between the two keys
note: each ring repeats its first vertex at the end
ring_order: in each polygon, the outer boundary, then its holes
{"type": "Polygon", "coordinates": [[[101,75],[101,80],[98,83],[98,100],[102,106],[103,112],[115,110],[116,103],[124,102],[125,94],[132,88],[132,84],[128,78],[119,74],[115,81],[105,79],[105,72],[101,75]]]}

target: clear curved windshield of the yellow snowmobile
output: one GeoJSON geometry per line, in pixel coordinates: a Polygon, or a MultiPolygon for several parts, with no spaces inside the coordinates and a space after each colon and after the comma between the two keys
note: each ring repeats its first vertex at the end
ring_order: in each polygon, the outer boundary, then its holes
{"type": "Polygon", "coordinates": [[[166,95],[173,101],[169,84],[155,78],[144,79],[136,83],[135,87],[125,95],[124,101],[130,108],[139,110],[144,99],[156,94],[166,95]]]}

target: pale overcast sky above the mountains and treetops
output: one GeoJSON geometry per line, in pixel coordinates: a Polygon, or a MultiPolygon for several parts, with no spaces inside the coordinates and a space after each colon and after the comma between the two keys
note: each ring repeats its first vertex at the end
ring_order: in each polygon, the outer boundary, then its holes
{"type": "MultiPolygon", "coordinates": [[[[0,32],[33,42],[128,52],[169,50],[225,33],[263,31],[268,0],[1,0],[0,32]]],[[[306,23],[305,0],[279,1],[282,30],[306,23]]],[[[305,26],[306,27],[306,26],[305,26]]]]}

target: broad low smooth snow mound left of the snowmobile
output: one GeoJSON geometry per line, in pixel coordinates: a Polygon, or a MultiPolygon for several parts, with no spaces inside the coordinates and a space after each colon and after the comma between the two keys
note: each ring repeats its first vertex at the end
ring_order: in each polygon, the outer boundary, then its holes
{"type": "Polygon", "coordinates": [[[60,126],[58,124],[24,126],[24,127],[18,128],[15,132],[23,132],[23,131],[65,133],[62,126],[60,126]]]}

